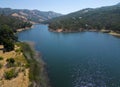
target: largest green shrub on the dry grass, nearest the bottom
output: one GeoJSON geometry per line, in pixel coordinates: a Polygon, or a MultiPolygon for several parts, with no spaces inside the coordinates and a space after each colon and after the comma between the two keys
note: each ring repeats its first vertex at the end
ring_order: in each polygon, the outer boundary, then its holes
{"type": "Polygon", "coordinates": [[[4,77],[5,77],[5,79],[7,79],[7,80],[10,80],[10,79],[15,78],[15,77],[17,77],[17,76],[18,76],[18,72],[16,72],[15,69],[11,69],[11,70],[6,71],[6,72],[4,73],[4,77]]]}

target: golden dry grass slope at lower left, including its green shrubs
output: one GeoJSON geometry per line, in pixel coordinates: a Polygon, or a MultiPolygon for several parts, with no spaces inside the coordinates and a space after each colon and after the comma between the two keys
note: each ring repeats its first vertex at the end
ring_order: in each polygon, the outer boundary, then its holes
{"type": "Polygon", "coordinates": [[[3,53],[0,50],[0,87],[28,87],[30,79],[27,65],[19,46],[16,45],[15,50],[10,52],[3,53]]]}

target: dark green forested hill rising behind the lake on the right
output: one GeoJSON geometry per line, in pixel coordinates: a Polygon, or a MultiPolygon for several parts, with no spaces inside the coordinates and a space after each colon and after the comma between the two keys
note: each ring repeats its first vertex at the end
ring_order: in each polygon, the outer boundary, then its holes
{"type": "Polygon", "coordinates": [[[68,15],[46,21],[53,30],[78,31],[106,29],[120,31],[120,3],[101,8],[86,8],[68,15]]]}

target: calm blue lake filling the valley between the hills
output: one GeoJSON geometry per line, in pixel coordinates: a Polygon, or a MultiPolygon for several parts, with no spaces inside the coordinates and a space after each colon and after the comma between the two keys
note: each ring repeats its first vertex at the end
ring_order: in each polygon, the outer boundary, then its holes
{"type": "Polygon", "coordinates": [[[99,32],[55,33],[46,25],[18,33],[32,41],[52,87],[120,87],[120,39],[99,32]]]}

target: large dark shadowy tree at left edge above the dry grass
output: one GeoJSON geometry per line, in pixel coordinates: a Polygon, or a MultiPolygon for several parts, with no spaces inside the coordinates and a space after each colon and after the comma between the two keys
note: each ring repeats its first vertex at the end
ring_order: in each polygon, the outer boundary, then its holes
{"type": "Polygon", "coordinates": [[[4,45],[5,51],[14,49],[14,42],[17,40],[12,29],[7,25],[0,27],[0,44],[4,45]]]}

